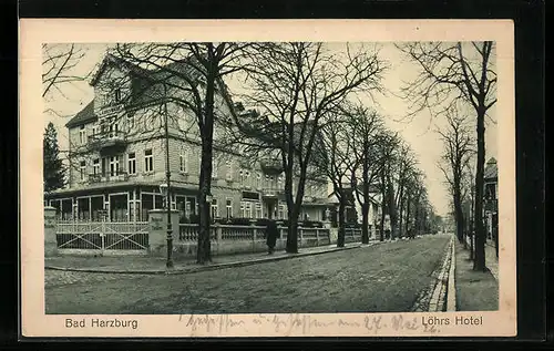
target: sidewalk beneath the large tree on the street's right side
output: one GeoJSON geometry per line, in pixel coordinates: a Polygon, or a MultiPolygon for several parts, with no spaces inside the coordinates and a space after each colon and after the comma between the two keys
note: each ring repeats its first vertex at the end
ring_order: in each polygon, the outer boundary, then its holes
{"type": "MultiPolygon", "coordinates": [[[[458,311],[494,311],[499,309],[499,281],[494,277],[493,260],[488,259],[490,272],[473,270],[473,261],[469,259],[470,251],[455,242],[455,291],[458,311]]],[[[494,248],[493,255],[494,255],[494,248]]],[[[497,264],[496,264],[497,270],[497,264]]]]}

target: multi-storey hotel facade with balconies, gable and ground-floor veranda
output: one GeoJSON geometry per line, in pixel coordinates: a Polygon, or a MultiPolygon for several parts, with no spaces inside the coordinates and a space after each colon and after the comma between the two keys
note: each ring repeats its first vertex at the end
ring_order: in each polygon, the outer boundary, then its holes
{"type": "MultiPolygon", "coordinates": [[[[68,187],[45,196],[59,218],[100,220],[105,213],[111,221],[145,221],[148,210],[165,207],[161,185],[170,171],[171,207],[181,221],[195,220],[198,127],[194,114],[179,104],[178,90],[164,87],[161,94],[160,84],[148,84],[156,74],[104,58],[90,82],[94,99],[65,124],[68,187]]],[[[217,94],[216,110],[219,116],[228,113],[217,94]]],[[[226,143],[225,127],[216,123],[213,153],[212,218],[287,218],[280,159],[253,159],[226,143]]],[[[300,220],[324,220],[327,198],[327,179],[308,179],[300,220]]]]}

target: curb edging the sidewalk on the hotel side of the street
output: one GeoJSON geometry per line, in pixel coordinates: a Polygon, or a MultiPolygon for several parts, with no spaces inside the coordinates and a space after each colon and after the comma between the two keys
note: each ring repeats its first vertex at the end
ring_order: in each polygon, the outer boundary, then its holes
{"type": "Polygon", "coordinates": [[[218,269],[225,269],[225,268],[232,268],[232,267],[245,267],[245,266],[273,262],[273,261],[280,261],[280,260],[298,258],[298,257],[307,257],[307,256],[316,256],[316,255],[322,255],[322,254],[329,254],[329,252],[346,251],[346,250],[351,250],[351,249],[357,249],[357,248],[362,248],[362,247],[371,247],[375,245],[379,245],[379,242],[373,242],[373,244],[369,244],[369,245],[357,244],[356,246],[334,248],[330,250],[321,250],[321,251],[316,251],[316,252],[288,254],[288,255],[284,255],[284,256],[271,257],[271,258],[261,258],[261,259],[254,259],[254,260],[246,260],[246,261],[226,262],[226,264],[218,264],[218,265],[213,265],[213,266],[196,266],[196,267],[175,269],[175,270],[165,270],[165,269],[160,269],[160,270],[103,270],[103,269],[89,269],[89,268],[66,268],[66,267],[55,267],[55,266],[44,266],[44,269],[61,270],[61,271],[78,271],[78,272],[89,272],[89,273],[115,273],[115,275],[184,275],[184,273],[195,273],[195,272],[201,272],[201,271],[218,270],[218,269]]]}

